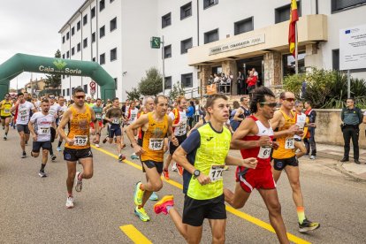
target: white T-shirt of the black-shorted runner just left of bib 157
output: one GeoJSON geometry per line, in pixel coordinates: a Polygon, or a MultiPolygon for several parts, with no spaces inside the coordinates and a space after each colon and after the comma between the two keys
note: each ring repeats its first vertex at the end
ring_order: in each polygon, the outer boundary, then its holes
{"type": "Polygon", "coordinates": [[[37,134],[37,141],[50,141],[50,127],[55,117],[50,113],[42,114],[42,111],[35,112],[30,119],[34,123],[34,132],[37,134]]]}

